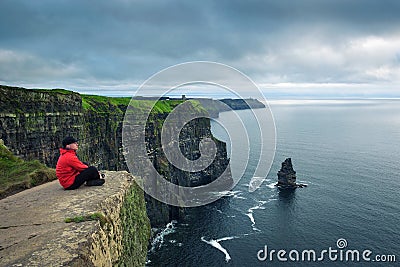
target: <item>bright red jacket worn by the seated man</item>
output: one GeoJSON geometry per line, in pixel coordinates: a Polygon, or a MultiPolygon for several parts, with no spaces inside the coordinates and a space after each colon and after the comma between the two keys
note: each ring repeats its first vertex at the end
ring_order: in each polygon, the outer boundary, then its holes
{"type": "Polygon", "coordinates": [[[78,159],[75,150],[60,148],[56,175],[62,187],[68,188],[71,186],[75,181],[75,177],[87,168],[88,166],[78,159]]]}

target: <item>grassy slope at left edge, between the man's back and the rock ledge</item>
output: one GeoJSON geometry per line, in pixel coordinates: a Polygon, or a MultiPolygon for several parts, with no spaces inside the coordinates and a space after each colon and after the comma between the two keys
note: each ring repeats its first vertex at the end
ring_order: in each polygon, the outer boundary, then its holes
{"type": "Polygon", "coordinates": [[[24,161],[0,143],[0,199],[55,179],[54,169],[37,160],[24,161]]]}

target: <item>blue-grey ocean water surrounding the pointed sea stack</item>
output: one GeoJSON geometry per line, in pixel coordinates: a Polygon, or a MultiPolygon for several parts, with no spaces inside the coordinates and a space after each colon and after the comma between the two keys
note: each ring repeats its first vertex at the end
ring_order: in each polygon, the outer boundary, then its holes
{"type": "MultiPolygon", "coordinates": [[[[261,187],[248,191],[257,162],[250,153],[250,167],[227,196],[160,229],[147,266],[400,266],[400,100],[270,106],[277,146],[261,187]],[[308,187],[274,187],[287,157],[308,187]]],[[[232,112],[220,117],[229,123],[232,112]]],[[[257,125],[245,121],[257,152],[257,125]]],[[[215,123],[213,133],[226,138],[215,123]]]]}

